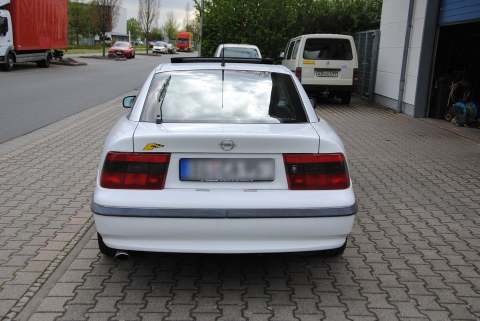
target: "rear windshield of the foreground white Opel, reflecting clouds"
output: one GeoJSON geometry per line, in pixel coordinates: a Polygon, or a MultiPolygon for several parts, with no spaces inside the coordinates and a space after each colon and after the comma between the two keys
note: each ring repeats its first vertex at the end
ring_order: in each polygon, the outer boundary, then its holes
{"type": "Polygon", "coordinates": [[[188,70],[155,74],[141,121],[300,123],[306,115],[288,74],[188,70]]]}

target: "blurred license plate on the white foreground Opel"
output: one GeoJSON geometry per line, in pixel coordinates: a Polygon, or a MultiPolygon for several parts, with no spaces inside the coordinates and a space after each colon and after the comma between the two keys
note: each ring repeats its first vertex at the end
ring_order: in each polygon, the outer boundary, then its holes
{"type": "Polygon", "coordinates": [[[180,181],[271,182],[275,161],[271,158],[181,158],[180,181]]]}

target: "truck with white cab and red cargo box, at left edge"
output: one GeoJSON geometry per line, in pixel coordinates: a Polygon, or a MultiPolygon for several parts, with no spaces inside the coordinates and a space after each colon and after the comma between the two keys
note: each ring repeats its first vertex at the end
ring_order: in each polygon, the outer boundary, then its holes
{"type": "Polygon", "coordinates": [[[0,0],[0,67],[36,62],[48,68],[51,49],[67,48],[67,23],[68,0],[0,0]]]}

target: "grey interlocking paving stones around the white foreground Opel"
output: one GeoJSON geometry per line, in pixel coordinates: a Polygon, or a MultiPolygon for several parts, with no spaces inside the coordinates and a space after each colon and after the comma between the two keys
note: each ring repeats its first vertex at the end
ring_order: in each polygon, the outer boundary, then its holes
{"type": "Polygon", "coordinates": [[[317,112],[345,144],[359,205],[341,257],[99,254],[88,203],[124,113],[108,107],[0,157],[0,316],[479,320],[479,141],[357,98],[317,112]]]}

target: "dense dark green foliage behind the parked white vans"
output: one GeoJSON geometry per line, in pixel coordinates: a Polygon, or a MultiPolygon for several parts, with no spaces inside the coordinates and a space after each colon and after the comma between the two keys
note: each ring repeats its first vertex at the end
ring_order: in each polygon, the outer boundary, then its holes
{"type": "MultiPolygon", "coordinates": [[[[200,10],[200,1],[195,9],[200,10]]],[[[379,26],[382,0],[205,0],[202,55],[220,43],[250,43],[278,59],[287,41],[307,33],[353,34],[379,26]]]]}

